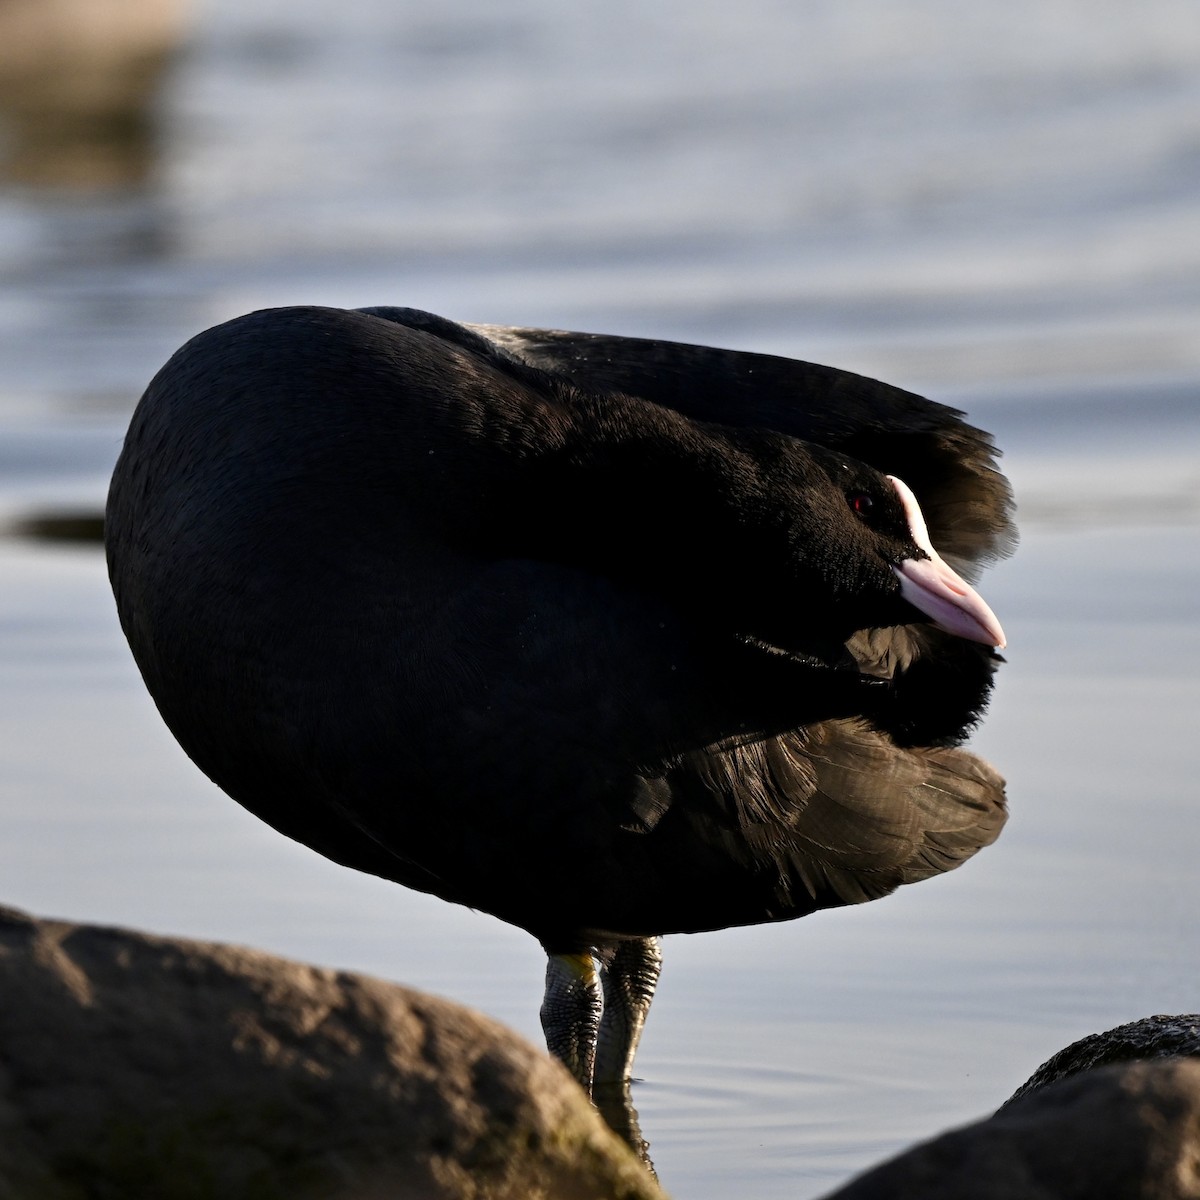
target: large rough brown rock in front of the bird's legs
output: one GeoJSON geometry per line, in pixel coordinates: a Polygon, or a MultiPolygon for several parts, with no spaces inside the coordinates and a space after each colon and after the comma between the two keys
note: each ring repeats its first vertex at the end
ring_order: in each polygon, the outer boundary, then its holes
{"type": "Polygon", "coordinates": [[[487,1018],[256,950],[0,910],[5,1200],[661,1200],[487,1018]]]}

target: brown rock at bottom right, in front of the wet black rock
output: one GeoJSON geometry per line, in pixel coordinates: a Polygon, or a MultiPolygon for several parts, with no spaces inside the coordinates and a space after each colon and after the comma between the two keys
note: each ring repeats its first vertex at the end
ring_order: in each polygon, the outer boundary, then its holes
{"type": "Polygon", "coordinates": [[[1102,1198],[1200,1198],[1200,1063],[1134,1062],[1050,1084],[827,1200],[1102,1198]]]}

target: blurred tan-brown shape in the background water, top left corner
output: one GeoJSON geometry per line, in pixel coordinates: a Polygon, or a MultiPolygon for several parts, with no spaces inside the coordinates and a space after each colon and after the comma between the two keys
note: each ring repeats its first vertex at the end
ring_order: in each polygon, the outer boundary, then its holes
{"type": "Polygon", "coordinates": [[[145,182],[155,163],[155,100],[181,32],[181,0],[0,5],[0,180],[145,182]]]}

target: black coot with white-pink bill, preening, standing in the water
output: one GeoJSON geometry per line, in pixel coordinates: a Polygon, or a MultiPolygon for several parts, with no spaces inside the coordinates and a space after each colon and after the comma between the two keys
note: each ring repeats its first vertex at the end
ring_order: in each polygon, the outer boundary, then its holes
{"type": "Polygon", "coordinates": [[[1003,784],[958,749],[1003,646],[962,578],[1013,538],[994,456],[829,367],[281,308],[151,382],[109,574],[197,764],[538,937],[547,1043],[590,1086],[629,1076],[659,935],[997,836],[1003,784]]]}

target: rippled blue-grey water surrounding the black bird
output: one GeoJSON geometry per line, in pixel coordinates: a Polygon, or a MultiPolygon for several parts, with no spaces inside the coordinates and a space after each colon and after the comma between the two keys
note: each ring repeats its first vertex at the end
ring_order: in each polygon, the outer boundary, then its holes
{"type": "MultiPolygon", "coordinates": [[[[2,521],[98,508],[154,371],[271,304],[792,354],[1004,448],[1022,545],[982,587],[1010,649],[974,744],[1010,824],[886,901],[667,941],[635,1099],[673,1195],[818,1195],[1075,1037],[1200,1007],[1194,0],[208,0],[149,126],[108,178],[0,179],[2,521]]],[[[5,902],[538,1037],[530,938],[191,767],[95,547],[0,539],[0,821],[5,902]]]]}

